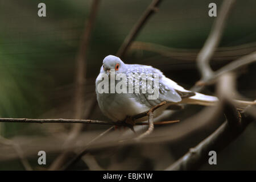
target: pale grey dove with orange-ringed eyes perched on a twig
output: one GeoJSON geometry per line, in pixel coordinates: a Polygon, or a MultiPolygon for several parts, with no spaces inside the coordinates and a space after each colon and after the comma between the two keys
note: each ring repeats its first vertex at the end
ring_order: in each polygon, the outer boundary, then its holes
{"type": "MultiPolygon", "coordinates": [[[[112,55],[106,56],[103,60],[100,75],[98,75],[96,79],[98,105],[102,113],[112,119],[112,121],[123,121],[126,117],[147,111],[163,101],[167,101],[167,104],[157,109],[154,112],[154,117],[162,114],[170,105],[199,104],[209,106],[214,105],[218,101],[217,97],[185,90],[182,86],[164,76],[159,69],[149,65],[125,64],[119,57],[112,55]],[[110,75],[110,70],[115,70],[115,75],[123,73],[127,77],[129,77],[130,73],[138,73],[139,75],[142,73],[151,73],[153,75],[157,73],[159,75],[159,97],[155,100],[149,100],[148,93],[99,93],[97,88],[102,81],[100,75],[101,73],[110,75]]],[[[154,80],[154,77],[152,77],[152,79],[154,80]]],[[[115,84],[117,84],[117,82],[115,82],[115,84]]],[[[141,84],[141,82],[138,84],[141,84]]],[[[143,119],[144,121],[146,120],[145,118],[143,119]]]]}

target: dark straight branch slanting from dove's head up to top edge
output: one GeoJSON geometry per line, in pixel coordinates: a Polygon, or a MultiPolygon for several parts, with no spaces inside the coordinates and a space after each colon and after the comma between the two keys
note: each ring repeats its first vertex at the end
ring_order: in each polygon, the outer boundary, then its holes
{"type": "Polygon", "coordinates": [[[116,54],[118,57],[123,57],[125,55],[131,42],[138,35],[139,31],[141,31],[144,24],[146,24],[146,22],[150,18],[150,16],[158,10],[158,6],[160,5],[160,2],[162,2],[162,0],[152,0],[150,5],[147,7],[147,9],[142,14],[141,18],[139,18],[138,22],[134,24],[134,27],[131,29],[129,34],[126,36],[121,47],[118,49],[118,52],[116,54]]]}

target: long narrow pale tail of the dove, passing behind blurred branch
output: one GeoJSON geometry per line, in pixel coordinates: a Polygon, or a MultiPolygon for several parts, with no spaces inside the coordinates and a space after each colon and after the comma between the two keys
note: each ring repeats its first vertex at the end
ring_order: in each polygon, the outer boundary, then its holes
{"type": "MultiPolygon", "coordinates": [[[[182,103],[185,104],[199,104],[204,106],[213,106],[216,105],[218,102],[218,98],[214,96],[207,96],[205,94],[197,93],[195,96],[185,98],[182,103]]],[[[237,107],[237,109],[245,109],[246,106],[249,105],[256,105],[255,101],[240,101],[240,100],[234,100],[234,105],[237,107]]]]}

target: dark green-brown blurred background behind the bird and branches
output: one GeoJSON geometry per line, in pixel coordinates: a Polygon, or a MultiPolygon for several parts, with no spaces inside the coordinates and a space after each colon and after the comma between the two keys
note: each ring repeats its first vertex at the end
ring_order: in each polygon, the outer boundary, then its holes
{"type": "MultiPolygon", "coordinates": [[[[85,101],[94,95],[94,81],[100,71],[102,59],[115,55],[128,32],[142,15],[150,0],[125,1],[102,0],[96,23],[87,50],[85,101]]],[[[200,80],[196,67],[195,52],[203,47],[214,18],[208,16],[208,5],[217,4],[217,13],[222,1],[163,1],[142,28],[135,41],[154,43],[171,48],[178,56],[164,53],[130,49],[123,61],[129,64],[147,64],[161,69],[164,74],[189,89],[200,80]]],[[[2,118],[72,118],[75,83],[75,63],[85,20],[92,1],[14,1],[0,0],[0,117],[2,118]],[[47,16],[38,17],[38,4],[46,3],[47,16]]],[[[226,24],[219,49],[211,61],[214,70],[256,50],[256,1],[237,1],[226,24]]],[[[250,100],[256,97],[256,65],[241,69],[237,79],[238,91],[250,100]]],[[[213,94],[209,86],[205,93],[213,94]]],[[[182,118],[200,110],[190,106],[180,112],[182,118]]],[[[180,118],[179,115],[175,116],[180,118]]],[[[94,110],[92,119],[108,120],[101,111],[94,110]]],[[[181,139],[170,146],[155,145],[159,160],[174,162],[207,137],[218,125],[181,139]],[[161,148],[163,150],[161,150],[161,148]],[[168,151],[168,152],[167,152],[168,151]],[[171,151],[171,152],[170,152],[171,151]],[[166,154],[166,155],[165,155],[166,154]],[[167,155],[168,154],[168,155],[167,155]],[[168,159],[167,159],[168,158],[168,159]]],[[[52,133],[67,132],[71,125],[0,123],[0,135],[13,139],[37,137],[52,133]]],[[[105,126],[89,126],[87,130],[105,129],[105,126]]],[[[235,142],[218,154],[217,165],[205,164],[201,169],[256,169],[256,123],[251,123],[235,142]]],[[[50,142],[50,141],[49,141],[50,142]]],[[[0,145],[1,147],[1,145],[0,145]]],[[[27,145],[33,148],[32,144],[27,145]]],[[[145,146],[147,148],[149,146],[145,146]]],[[[43,148],[42,148],[43,150],[43,148]]],[[[108,160],[122,150],[100,151],[95,155],[105,169],[164,169],[167,164],[155,167],[146,156],[136,155],[138,147],[130,147],[130,163],[126,168],[111,168],[108,160]],[[104,155],[103,155],[104,154],[104,155]],[[103,156],[102,156],[103,155],[103,156]],[[137,164],[139,163],[139,164],[137,164]]],[[[138,152],[139,153],[139,152],[138,152]]],[[[1,155],[1,152],[0,152],[1,155]]],[[[48,164],[57,154],[48,155],[48,164]]],[[[121,157],[120,157],[121,158],[121,157]]],[[[37,156],[28,158],[36,168],[37,156]]],[[[122,164],[122,159],[113,159],[122,164]]],[[[48,167],[48,164],[46,167],[48,167]]],[[[79,163],[78,167],[86,168],[79,163]]],[[[110,165],[111,166],[111,165],[110,165]]],[[[23,169],[18,159],[0,161],[0,169],[23,169]]]]}

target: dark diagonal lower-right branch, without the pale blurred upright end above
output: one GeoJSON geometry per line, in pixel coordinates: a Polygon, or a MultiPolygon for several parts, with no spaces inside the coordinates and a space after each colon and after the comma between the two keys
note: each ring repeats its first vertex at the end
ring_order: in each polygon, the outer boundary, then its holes
{"type": "Polygon", "coordinates": [[[177,160],[166,170],[195,170],[202,164],[206,163],[209,158],[209,151],[221,151],[223,148],[232,143],[242,132],[246,126],[253,121],[253,118],[246,117],[242,114],[242,118],[236,117],[238,112],[234,112],[234,108],[229,103],[224,106],[226,117],[228,118],[212,135],[204,139],[195,148],[191,148],[187,154],[177,160]],[[230,118],[235,118],[230,120],[230,118]],[[240,122],[241,121],[241,125],[240,122]],[[240,125],[240,127],[236,127],[240,125]]]}

